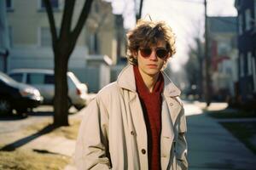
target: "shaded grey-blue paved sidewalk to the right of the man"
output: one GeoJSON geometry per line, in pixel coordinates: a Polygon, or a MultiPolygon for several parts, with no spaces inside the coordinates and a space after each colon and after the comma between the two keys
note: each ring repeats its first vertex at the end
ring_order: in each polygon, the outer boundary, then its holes
{"type": "Polygon", "coordinates": [[[187,122],[189,169],[255,169],[253,152],[218,124],[218,120],[201,114],[187,116],[187,122]]]}

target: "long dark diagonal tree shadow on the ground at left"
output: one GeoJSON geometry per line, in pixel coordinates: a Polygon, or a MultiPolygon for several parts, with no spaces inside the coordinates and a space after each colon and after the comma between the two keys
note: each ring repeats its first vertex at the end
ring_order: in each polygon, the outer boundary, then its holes
{"type": "Polygon", "coordinates": [[[1,148],[0,151],[13,151],[13,150],[21,147],[22,145],[29,143],[33,139],[37,139],[38,137],[40,137],[46,133],[52,132],[53,130],[55,130],[55,128],[57,128],[57,127],[50,124],[50,125],[44,127],[43,129],[41,129],[40,131],[38,131],[37,133],[33,133],[30,136],[27,136],[23,139],[19,139],[11,144],[7,144],[7,145],[3,146],[3,148],[1,148]]]}

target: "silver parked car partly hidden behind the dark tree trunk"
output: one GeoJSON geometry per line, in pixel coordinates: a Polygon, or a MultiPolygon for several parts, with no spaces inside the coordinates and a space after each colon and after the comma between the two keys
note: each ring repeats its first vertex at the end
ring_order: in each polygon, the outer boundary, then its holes
{"type": "MultiPolygon", "coordinates": [[[[55,76],[52,70],[43,69],[15,69],[9,72],[9,76],[18,82],[30,84],[39,89],[44,97],[45,105],[53,105],[55,97],[55,76]]],[[[67,87],[69,106],[74,105],[81,110],[88,102],[88,88],[86,84],[79,82],[73,72],[67,72],[67,87]]]]}

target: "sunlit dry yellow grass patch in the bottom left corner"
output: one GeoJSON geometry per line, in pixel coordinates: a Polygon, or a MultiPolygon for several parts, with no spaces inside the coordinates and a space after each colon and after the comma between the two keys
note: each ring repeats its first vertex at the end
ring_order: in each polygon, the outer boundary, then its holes
{"type": "Polygon", "coordinates": [[[15,150],[0,152],[0,169],[44,170],[63,169],[70,158],[50,153],[37,153],[32,150],[15,150]]]}

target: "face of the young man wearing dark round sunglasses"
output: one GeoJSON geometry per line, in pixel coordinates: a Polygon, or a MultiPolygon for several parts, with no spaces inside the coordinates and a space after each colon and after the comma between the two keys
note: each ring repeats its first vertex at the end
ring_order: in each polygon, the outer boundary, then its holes
{"type": "Polygon", "coordinates": [[[158,75],[164,65],[164,62],[167,59],[167,56],[165,58],[158,57],[156,54],[156,50],[166,49],[166,42],[160,41],[157,43],[157,45],[148,48],[151,48],[151,54],[148,53],[149,55],[147,57],[145,57],[145,54],[143,54],[142,48],[138,49],[137,65],[141,74],[146,74],[147,76],[154,77],[158,75]]]}

